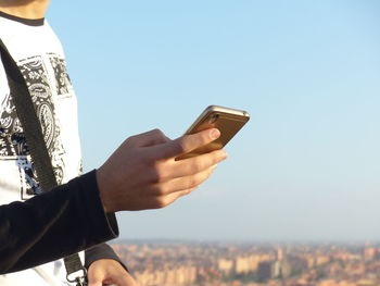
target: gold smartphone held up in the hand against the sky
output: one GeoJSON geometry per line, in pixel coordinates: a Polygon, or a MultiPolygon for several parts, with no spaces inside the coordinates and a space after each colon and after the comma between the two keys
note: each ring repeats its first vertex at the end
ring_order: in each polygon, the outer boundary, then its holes
{"type": "Polygon", "coordinates": [[[220,130],[220,137],[208,145],[178,157],[176,160],[182,160],[224,148],[249,120],[250,114],[244,110],[210,105],[185,134],[194,134],[208,128],[218,128],[220,130]]]}

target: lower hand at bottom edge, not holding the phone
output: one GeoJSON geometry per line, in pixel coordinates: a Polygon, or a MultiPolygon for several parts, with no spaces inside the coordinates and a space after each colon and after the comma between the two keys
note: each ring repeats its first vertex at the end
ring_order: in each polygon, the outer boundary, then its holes
{"type": "Polygon", "coordinates": [[[118,286],[138,286],[129,273],[115,260],[101,259],[88,269],[88,286],[115,284],[118,286]]]}

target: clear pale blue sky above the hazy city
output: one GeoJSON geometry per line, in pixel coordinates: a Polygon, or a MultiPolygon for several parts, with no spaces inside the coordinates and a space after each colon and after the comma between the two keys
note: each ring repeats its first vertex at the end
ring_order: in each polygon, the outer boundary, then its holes
{"type": "Polygon", "coordinates": [[[206,184],[119,214],[121,237],[380,239],[379,15],[376,0],[52,0],[85,170],[210,104],[252,116],[206,184]]]}

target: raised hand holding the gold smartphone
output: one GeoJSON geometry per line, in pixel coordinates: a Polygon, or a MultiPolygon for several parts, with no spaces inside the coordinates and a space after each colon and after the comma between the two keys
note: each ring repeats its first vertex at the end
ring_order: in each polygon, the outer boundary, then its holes
{"type": "Polygon", "coordinates": [[[154,129],[128,138],[97,171],[105,212],[164,208],[190,194],[226,159],[226,152],[176,158],[219,136],[213,128],[170,140],[154,129]]]}

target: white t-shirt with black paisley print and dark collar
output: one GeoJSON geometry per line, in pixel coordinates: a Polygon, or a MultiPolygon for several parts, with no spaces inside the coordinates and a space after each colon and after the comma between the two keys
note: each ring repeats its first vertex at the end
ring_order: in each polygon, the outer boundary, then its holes
{"type": "MultiPolygon", "coordinates": [[[[59,184],[81,172],[77,101],[61,42],[45,20],[23,20],[0,12],[0,38],[17,62],[41,122],[59,184]]],[[[0,61],[0,203],[40,192],[0,61]]],[[[0,275],[0,285],[63,285],[63,261],[0,275]]]]}

